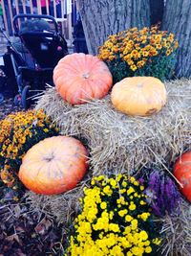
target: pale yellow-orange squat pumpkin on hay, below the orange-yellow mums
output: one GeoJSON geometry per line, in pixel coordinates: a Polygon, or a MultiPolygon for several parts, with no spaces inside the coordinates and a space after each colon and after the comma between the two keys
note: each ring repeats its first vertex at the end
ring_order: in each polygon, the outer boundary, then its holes
{"type": "Polygon", "coordinates": [[[112,104],[117,110],[133,116],[158,112],[166,98],[164,84],[152,77],[125,78],[114,85],[111,93],[112,104]]]}

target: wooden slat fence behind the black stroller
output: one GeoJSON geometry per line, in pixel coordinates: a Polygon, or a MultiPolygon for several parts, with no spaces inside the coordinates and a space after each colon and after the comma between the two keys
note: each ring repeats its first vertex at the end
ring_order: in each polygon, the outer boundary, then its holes
{"type": "Polygon", "coordinates": [[[45,0],[45,6],[41,6],[41,0],[2,0],[3,20],[8,35],[13,35],[12,18],[19,13],[35,13],[53,15],[60,25],[62,34],[72,44],[74,17],[76,16],[75,0],[45,0]]]}

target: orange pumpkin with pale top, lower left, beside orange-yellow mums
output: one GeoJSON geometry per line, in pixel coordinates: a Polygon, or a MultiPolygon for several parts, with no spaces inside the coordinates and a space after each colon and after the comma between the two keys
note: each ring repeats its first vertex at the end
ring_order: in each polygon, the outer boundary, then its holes
{"type": "Polygon", "coordinates": [[[67,136],[46,138],[23,157],[18,176],[37,194],[53,195],[73,189],[87,171],[88,151],[67,136]]]}

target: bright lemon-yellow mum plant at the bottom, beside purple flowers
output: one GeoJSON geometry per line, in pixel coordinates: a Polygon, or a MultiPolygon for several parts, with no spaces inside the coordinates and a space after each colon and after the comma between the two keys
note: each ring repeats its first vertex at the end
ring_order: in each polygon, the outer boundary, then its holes
{"type": "Polygon", "coordinates": [[[154,228],[152,233],[147,230],[152,214],[142,193],[144,187],[126,175],[99,175],[91,185],[80,198],[83,210],[75,219],[66,255],[141,256],[153,252],[161,241],[154,228]]]}

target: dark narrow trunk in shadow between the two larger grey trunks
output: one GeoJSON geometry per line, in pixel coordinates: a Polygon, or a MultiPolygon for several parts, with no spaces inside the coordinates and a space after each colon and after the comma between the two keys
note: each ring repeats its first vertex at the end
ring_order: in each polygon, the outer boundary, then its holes
{"type": "Polygon", "coordinates": [[[151,10],[151,25],[161,23],[163,11],[164,11],[164,0],[150,0],[151,10]]]}

